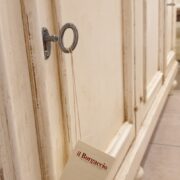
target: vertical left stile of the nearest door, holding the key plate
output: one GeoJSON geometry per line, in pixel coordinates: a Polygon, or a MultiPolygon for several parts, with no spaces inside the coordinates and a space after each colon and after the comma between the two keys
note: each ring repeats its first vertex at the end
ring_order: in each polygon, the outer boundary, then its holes
{"type": "Polygon", "coordinates": [[[55,44],[52,44],[51,57],[44,59],[41,34],[42,27],[56,34],[52,7],[52,1],[21,0],[43,180],[60,178],[68,154],[61,102],[61,59],[57,58],[55,44]]]}

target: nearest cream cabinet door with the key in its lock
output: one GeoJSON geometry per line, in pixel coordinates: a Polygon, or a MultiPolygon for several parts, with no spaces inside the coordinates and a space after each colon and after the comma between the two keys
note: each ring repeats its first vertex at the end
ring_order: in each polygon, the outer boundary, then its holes
{"type": "MultiPolygon", "coordinates": [[[[69,149],[71,152],[78,140],[116,157],[117,168],[133,141],[131,3],[125,0],[122,6],[119,0],[22,0],[44,179],[59,179],[69,149]],[[72,55],[76,94],[71,55],[52,43],[51,56],[45,60],[41,35],[42,27],[58,34],[68,22],[74,23],[79,32],[72,55]]],[[[64,36],[68,46],[71,31],[64,36]]]]}

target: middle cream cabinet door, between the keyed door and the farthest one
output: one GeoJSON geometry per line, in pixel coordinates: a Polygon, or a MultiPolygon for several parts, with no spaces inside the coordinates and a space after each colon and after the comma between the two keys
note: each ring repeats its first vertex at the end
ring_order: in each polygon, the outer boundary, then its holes
{"type": "Polygon", "coordinates": [[[137,129],[162,84],[160,0],[135,2],[137,129]]]}

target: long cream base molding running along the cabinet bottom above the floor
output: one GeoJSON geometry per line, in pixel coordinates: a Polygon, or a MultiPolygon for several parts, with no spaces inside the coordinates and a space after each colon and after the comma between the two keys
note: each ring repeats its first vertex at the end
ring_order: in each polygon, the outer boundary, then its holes
{"type": "Polygon", "coordinates": [[[172,88],[173,80],[178,71],[178,63],[175,61],[166,77],[164,85],[161,87],[155,101],[153,102],[140,131],[134,140],[125,160],[116,174],[115,180],[134,180],[140,167],[149,141],[157,125],[159,116],[164,107],[168,94],[172,88]]]}

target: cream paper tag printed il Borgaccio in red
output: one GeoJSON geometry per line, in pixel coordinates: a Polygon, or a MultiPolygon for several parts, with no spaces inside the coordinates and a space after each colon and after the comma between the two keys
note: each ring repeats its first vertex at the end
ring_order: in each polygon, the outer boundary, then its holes
{"type": "Polygon", "coordinates": [[[83,142],[78,142],[61,180],[106,180],[114,158],[83,142]]]}

